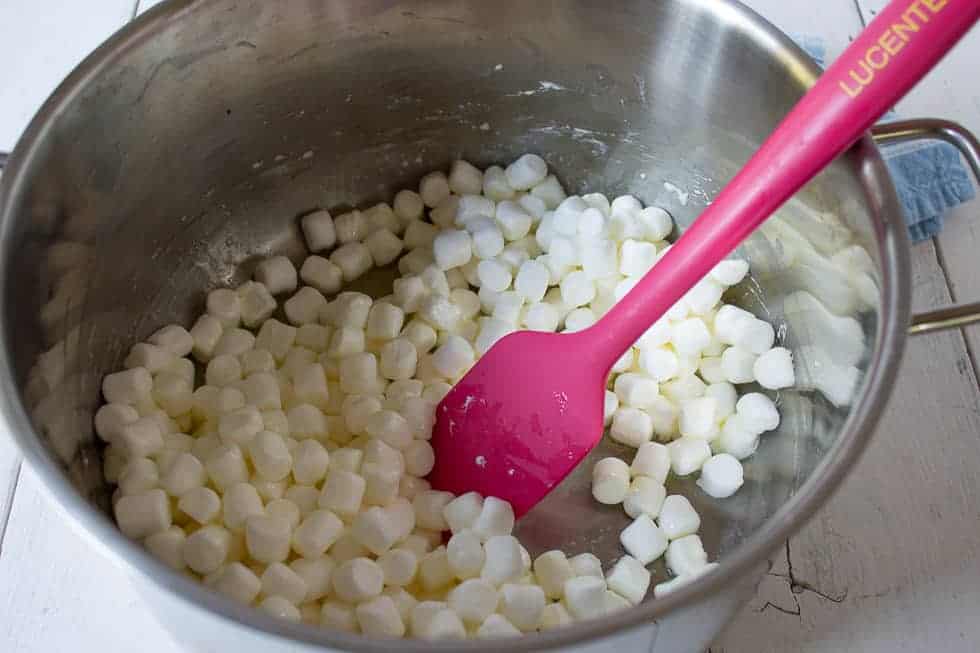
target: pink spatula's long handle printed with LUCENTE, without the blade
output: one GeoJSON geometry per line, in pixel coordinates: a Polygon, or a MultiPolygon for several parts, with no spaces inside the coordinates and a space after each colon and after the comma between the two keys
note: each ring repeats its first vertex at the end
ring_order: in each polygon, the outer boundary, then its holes
{"type": "Polygon", "coordinates": [[[599,322],[596,365],[646,329],[838,154],[980,18],[980,0],[894,0],[790,111],[656,267],[599,322]]]}

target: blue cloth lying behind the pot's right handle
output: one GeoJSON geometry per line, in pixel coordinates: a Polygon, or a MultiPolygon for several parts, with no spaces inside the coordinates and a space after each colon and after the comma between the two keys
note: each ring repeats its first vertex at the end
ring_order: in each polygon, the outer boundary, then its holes
{"type": "MultiPolygon", "coordinates": [[[[794,35],[793,40],[821,68],[825,67],[827,50],[823,39],[794,35]]],[[[890,111],[882,122],[896,118],[890,111]]],[[[960,160],[959,151],[949,143],[918,141],[887,145],[881,148],[881,153],[898,192],[913,241],[938,234],[943,228],[943,215],[976,196],[971,175],[960,160]]]]}

